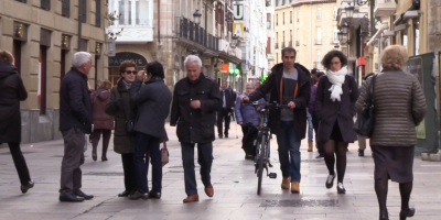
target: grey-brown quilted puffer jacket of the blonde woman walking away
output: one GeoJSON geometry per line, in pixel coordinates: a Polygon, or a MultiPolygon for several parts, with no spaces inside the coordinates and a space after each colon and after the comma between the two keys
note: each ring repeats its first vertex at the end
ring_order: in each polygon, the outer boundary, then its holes
{"type": "MultiPolygon", "coordinates": [[[[362,112],[373,77],[362,86],[356,102],[362,112]]],[[[416,129],[426,116],[426,98],[417,77],[402,70],[384,70],[375,82],[375,127],[372,146],[415,146],[416,129]],[[392,86],[391,86],[392,85],[392,86]]]]}

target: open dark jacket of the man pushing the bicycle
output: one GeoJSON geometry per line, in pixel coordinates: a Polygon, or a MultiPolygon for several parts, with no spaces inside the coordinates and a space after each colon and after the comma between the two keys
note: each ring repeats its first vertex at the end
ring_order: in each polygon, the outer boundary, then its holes
{"type": "MultiPolygon", "coordinates": [[[[295,63],[294,68],[299,73],[297,94],[293,95],[292,101],[295,103],[295,108],[292,110],[294,112],[294,133],[298,140],[304,139],[306,133],[306,108],[310,101],[311,94],[311,74],[301,64],[295,63]]],[[[249,95],[250,101],[256,101],[263,98],[268,92],[270,92],[270,102],[280,103],[281,84],[283,77],[283,64],[277,64],[272,67],[271,73],[267,80],[260,85],[252,94],[249,95]]],[[[273,110],[269,113],[268,120],[271,133],[278,134],[280,130],[280,110],[273,110]]]]}

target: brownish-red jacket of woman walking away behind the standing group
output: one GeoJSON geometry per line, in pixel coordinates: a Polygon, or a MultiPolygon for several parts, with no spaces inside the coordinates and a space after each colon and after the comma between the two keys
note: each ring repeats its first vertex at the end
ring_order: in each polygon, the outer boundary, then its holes
{"type": "Polygon", "coordinates": [[[98,89],[90,95],[92,120],[94,129],[112,130],[114,118],[105,112],[106,105],[110,100],[110,91],[98,89]]]}

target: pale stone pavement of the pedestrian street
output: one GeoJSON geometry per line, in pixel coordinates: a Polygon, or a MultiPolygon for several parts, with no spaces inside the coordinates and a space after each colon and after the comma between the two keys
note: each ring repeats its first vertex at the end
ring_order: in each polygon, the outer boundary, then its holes
{"type": "MultiPolygon", "coordinates": [[[[325,188],[325,164],[323,160],[314,158],[316,152],[306,152],[304,140],[301,147],[301,194],[292,195],[280,188],[277,144],[272,140],[271,162],[275,167],[271,170],[278,173],[278,178],[265,177],[262,194],[257,196],[257,177],[252,162],[244,160],[241,134],[236,139],[234,125],[229,139],[216,140],[214,143],[214,197],[205,196],[200,176],[196,175],[200,201],[184,205],[181,148],[174,128],[166,129],[170,138],[170,164],[163,168],[163,191],[160,200],[132,201],[118,198],[117,194],[123,189],[120,156],[110,146],[108,162],[94,162],[89,146],[86,162],[82,166],[83,190],[93,194],[95,198],[80,204],[60,202],[57,190],[63,156],[62,141],[22,146],[31,176],[35,180],[35,187],[22,195],[9,150],[0,148],[0,219],[378,219],[370,151],[367,150],[365,157],[358,157],[356,143],[349,145],[344,182],[347,193],[337,195],[335,186],[332,189],[325,188]]],[[[98,154],[98,160],[99,157],[98,154]]],[[[441,163],[416,158],[413,167],[411,206],[417,208],[413,219],[441,219],[441,163]]],[[[197,170],[196,165],[196,174],[197,170]]],[[[398,184],[391,183],[388,197],[390,219],[398,219],[399,206],[398,184]]]]}

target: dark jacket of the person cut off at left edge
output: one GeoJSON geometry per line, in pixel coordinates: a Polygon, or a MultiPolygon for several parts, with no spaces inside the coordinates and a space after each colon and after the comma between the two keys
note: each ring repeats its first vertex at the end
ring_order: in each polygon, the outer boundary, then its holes
{"type": "Polygon", "coordinates": [[[28,98],[17,68],[0,63],[0,143],[21,142],[20,101],[28,98]]]}

